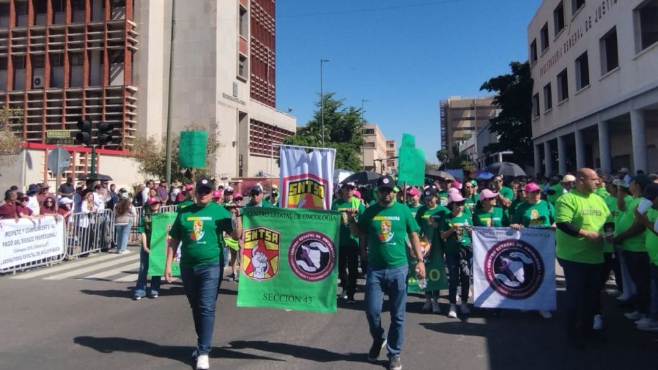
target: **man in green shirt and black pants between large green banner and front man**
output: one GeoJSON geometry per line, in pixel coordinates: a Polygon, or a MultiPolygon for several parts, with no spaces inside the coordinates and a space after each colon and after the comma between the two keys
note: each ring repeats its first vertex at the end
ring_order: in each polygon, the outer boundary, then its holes
{"type": "Polygon", "coordinates": [[[341,185],[340,197],[332,204],[331,209],[341,213],[340,245],[338,251],[338,275],[341,280],[343,291],[339,297],[347,299],[346,303],[354,304],[354,293],[356,293],[356,277],[358,275],[358,238],[350,232],[348,222],[348,211],[352,208],[358,210],[358,214],[365,212],[361,201],[354,197],[356,184],[345,182],[341,185]]]}

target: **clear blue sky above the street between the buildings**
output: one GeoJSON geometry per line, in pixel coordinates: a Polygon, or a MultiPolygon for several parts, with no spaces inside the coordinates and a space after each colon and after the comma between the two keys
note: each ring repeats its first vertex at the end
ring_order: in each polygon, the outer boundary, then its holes
{"type": "Polygon", "coordinates": [[[540,0],[278,0],[276,105],[297,125],[320,91],[361,108],[388,139],[416,136],[436,162],[439,101],[484,96],[480,86],[527,60],[528,23],[540,0]]]}

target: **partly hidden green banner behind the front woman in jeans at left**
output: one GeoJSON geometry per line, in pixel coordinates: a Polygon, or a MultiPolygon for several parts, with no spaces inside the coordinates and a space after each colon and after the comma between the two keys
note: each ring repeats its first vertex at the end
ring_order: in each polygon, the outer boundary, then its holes
{"type": "MultiPolygon", "coordinates": [[[[158,213],[151,216],[151,252],[149,253],[149,276],[164,276],[164,264],[167,262],[167,242],[169,230],[176,219],[175,212],[158,213]]],[[[141,239],[140,239],[141,240],[141,239]]],[[[180,247],[171,264],[171,275],[180,275],[180,247]]]]}

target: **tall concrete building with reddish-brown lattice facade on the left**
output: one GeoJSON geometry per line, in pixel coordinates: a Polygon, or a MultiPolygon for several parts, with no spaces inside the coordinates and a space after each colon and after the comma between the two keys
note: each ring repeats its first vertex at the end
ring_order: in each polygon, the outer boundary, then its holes
{"type": "MultiPolygon", "coordinates": [[[[272,144],[296,122],[276,109],[275,1],[176,1],[168,110],[172,3],[0,0],[0,104],[23,109],[14,118],[28,150],[16,171],[26,183],[53,181],[47,131],[84,118],[114,125],[97,169],[132,184],[145,177],[126,158],[132,138],[164,137],[169,112],[173,132],[194,124],[217,137],[208,167],[218,177],[278,173],[272,144]]],[[[86,173],[89,150],[66,149],[67,175],[86,173]]]]}

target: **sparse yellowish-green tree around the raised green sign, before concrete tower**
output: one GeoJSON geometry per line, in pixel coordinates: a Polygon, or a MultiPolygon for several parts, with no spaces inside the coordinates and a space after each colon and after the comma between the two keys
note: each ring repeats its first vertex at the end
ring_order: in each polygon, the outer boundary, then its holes
{"type": "MultiPolygon", "coordinates": [[[[194,123],[184,127],[183,131],[197,130],[206,131],[206,127],[196,125],[194,123]]],[[[191,178],[186,177],[184,170],[178,167],[178,140],[180,136],[174,134],[171,144],[171,181],[189,181],[191,178]]],[[[217,137],[208,135],[206,141],[206,166],[215,162],[217,159],[217,149],[221,146],[217,137]]],[[[166,149],[167,138],[162,137],[158,139],[157,136],[140,136],[137,135],[132,140],[131,158],[136,160],[139,164],[139,171],[145,175],[153,175],[154,177],[164,178],[166,169],[166,149]]],[[[205,167],[203,169],[196,169],[195,177],[200,179],[202,177],[214,177],[214,173],[205,167]]]]}

